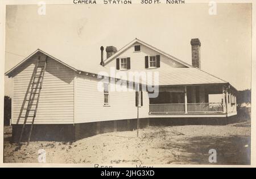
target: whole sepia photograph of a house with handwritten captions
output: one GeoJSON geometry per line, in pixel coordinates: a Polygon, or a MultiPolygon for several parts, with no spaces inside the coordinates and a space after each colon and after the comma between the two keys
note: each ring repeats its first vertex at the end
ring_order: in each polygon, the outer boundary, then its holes
{"type": "Polygon", "coordinates": [[[7,4],[3,163],[251,165],[252,13],[7,4]]]}

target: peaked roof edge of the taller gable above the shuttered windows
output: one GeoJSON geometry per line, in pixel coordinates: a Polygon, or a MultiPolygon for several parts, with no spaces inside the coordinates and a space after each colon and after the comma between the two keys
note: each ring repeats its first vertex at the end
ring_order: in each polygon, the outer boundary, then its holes
{"type": "Polygon", "coordinates": [[[189,65],[189,64],[185,63],[184,61],[179,60],[179,59],[177,59],[176,57],[171,56],[170,54],[168,54],[168,53],[166,53],[166,52],[163,52],[163,51],[161,51],[160,49],[155,48],[155,47],[153,47],[152,45],[147,44],[146,42],[144,42],[144,41],[142,41],[142,40],[139,40],[139,39],[137,39],[137,38],[135,38],[135,39],[134,39],[133,41],[131,41],[129,44],[125,45],[125,47],[119,49],[119,51],[117,51],[116,53],[114,53],[114,55],[112,55],[112,56],[110,56],[108,59],[104,60],[104,63],[105,63],[105,64],[109,63],[109,61],[113,60],[115,57],[117,57],[118,55],[120,55],[123,51],[125,51],[127,48],[131,47],[131,45],[133,45],[134,43],[137,43],[137,42],[138,42],[138,43],[141,43],[142,45],[145,45],[145,46],[148,47],[148,48],[153,49],[154,51],[156,51],[156,52],[158,52],[158,53],[160,53],[160,54],[162,54],[162,55],[164,55],[164,56],[166,56],[166,57],[169,57],[169,58],[172,59],[172,60],[177,61],[177,62],[180,63],[180,64],[183,64],[183,65],[185,65],[185,66],[187,66],[187,67],[189,67],[189,68],[193,68],[192,65],[189,65]]]}

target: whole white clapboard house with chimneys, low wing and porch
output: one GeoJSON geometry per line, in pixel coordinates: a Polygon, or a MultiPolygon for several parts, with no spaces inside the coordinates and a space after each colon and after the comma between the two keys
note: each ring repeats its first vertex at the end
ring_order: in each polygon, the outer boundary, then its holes
{"type": "Polygon", "coordinates": [[[96,67],[74,66],[36,50],[6,72],[13,78],[14,141],[30,136],[31,140],[77,140],[102,132],[134,130],[137,106],[139,127],[172,119],[207,121],[236,115],[237,90],[201,70],[199,39],[192,39],[191,45],[192,65],[139,39],[119,51],[106,47],[105,60],[101,47],[96,67]],[[147,88],[135,92],[135,86],[145,85],[143,82],[122,80],[122,84],[133,85],[120,84],[120,78],[110,74],[111,68],[125,73],[158,72],[158,96],[149,98],[147,88]],[[102,90],[98,90],[99,84],[102,90]],[[127,91],[112,91],[112,85],[127,91]]]}

